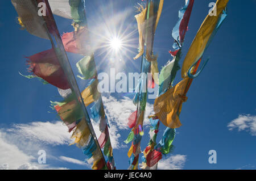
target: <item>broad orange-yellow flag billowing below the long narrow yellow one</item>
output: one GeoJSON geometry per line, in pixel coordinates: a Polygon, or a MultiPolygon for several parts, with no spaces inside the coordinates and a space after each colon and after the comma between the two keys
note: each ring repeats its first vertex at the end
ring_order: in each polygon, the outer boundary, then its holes
{"type": "Polygon", "coordinates": [[[183,79],[165,94],[155,99],[154,111],[159,120],[169,128],[179,128],[181,126],[179,113],[182,103],[187,101],[184,96],[189,78],[183,79]]]}

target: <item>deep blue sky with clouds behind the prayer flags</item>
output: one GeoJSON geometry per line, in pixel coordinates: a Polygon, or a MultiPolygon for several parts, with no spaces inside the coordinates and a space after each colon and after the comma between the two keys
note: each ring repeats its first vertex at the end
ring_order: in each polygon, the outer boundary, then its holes
{"type": "MultiPolygon", "coordinates": [[[[123,49],[120,52],[127,55],[123,56],[122,61],[116,58],[111,61],[113,57],[106,57],[108,49],[95,52],[98,72],[109,72],[110,68],[118,68],[118,71],[125,73],[139,72],[140,61],[132,59],[138,45],[134,19],[137,2],[140,1],[86,1],[88,26],[95,34],[93,40],[99,39],[99,33],[104,35],[108,32],[106,26],[112,32],[125,32],[125,36],[131,33],[129,44],[132,47],[129,51],[123,49]]],[[[159,69],[171,58],[168,53],[173,44],[171,30],[184,2],[164,1],[154,42],[159,69]]],[[[195,1],[180,64],[208,14],[210,2],[213,1],[195,1]]],[[[43,85],[36,79],[26,79],[18,73],[27,74],[26,58],[23,56],[51,48],[49,41],[19,30],[17,14],[10,1],[1,1],[0,7],[0,166],[9,163],[11,169],[16,169],[23,163],[30,163],[40,169],[89,169],[88,165],[80,162],[84,160],[82,151],[76,146],[68,146],[67,130],[49,108],[50,100],[61,100],[56,87],[43,85]],[[47,153],[46,165],[37,163],[38,150],[42,149],[47,153]]],[[[201,75],[193,81],[187,95],[188,101],[183,104],[180,115],[183,126],[177,129],[174,153],[164,157],[160,168],[255,169],[255,11],[254,0],[228,3],[228,17],[205,52],[204,57],[210,56],[210,60],[201,75]],[[209,150],[217,151],[217,164],[209,164],[209,150]]],[[[71,20],[57,16],[55,20],[60,33],[73,31],[71,20]]],[[[75,64],[81,56],[71,53],[68,56],[77,74],[75,64]]],[[[180,80],[179,71],[175,84],[180,80]]],[[[86,82],[79,79],[77,82],[81,90],[85,89],[86,82]]],[[[130,132],[125,125],[127,116],[135,111],[129,96],[104,94],[106,113],[112,126],[110,132],[113,133],[117,169],[127,169],[129,166],[127,151],[130,144],[126,146],[123,143],[130,132]]],[[[153,100],[148,101],[148,114],[152,111],[153,103],[153,100]]],[[[159,135],[162,135],[164,127],[161,126],[160,130],[159,135]]],[[[142,150],[148,141],[149,136],[145,134],[142,150]]]]}

